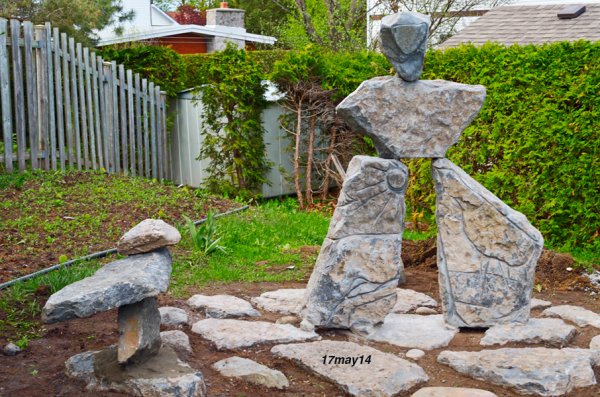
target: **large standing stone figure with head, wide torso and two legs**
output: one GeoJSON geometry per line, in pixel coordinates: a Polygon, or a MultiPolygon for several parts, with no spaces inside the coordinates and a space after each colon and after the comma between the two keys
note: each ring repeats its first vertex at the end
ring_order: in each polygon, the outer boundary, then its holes
{"type": "Polygon", "coordinates": [[[381,46],[396,76],[364,81],[337,107],[379,158],[357,156],[308,283],[304,326],[369,333],[393,308],[408,171],[402,158],[432,158],[438,269],[446,322],[487,327],[526,322],[543,239],[521,213],[444,158],[479,113],[485,87],[418,80],[429,17],[382,20],[381,46]]]}

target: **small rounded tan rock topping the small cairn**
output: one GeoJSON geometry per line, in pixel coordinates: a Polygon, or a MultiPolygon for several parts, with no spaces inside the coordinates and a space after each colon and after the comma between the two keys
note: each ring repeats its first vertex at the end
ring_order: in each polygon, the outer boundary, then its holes
{"type": "Polygon", "coordinates": [[[173,226],[161,219],[145,219],[130,229],[119,239],[117,251],[123,255],[142,254],[181,240],[181,234],[173,226]]]}

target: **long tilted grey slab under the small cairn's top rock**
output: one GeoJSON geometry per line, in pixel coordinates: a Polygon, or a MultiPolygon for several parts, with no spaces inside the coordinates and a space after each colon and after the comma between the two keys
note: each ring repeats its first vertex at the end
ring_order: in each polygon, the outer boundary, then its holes
{"type": "Polygon", "coordinates": [[[55,323],[140,302],[165,292],[170,275],[171,255],[166,248],[112,262],[52,294],[42,318],[55,323]]]}

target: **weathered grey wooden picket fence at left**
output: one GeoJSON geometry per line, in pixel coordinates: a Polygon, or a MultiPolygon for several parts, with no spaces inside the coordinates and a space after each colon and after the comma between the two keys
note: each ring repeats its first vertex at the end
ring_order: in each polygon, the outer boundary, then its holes
{"type": "Polygon", "coordinates": [[[0,18],[0,113],[0,170],[170,176],[164,92],[50,24],[0,18]]]}

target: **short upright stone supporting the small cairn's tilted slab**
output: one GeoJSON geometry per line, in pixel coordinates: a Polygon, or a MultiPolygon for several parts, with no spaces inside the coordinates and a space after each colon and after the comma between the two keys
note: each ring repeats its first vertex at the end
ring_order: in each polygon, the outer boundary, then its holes
{"type": "Polygon", "coordinates": [[[155,356],[160,349],[160,312],[156,298],[119,307],[120,364],[142,363],[155,356]]]}

